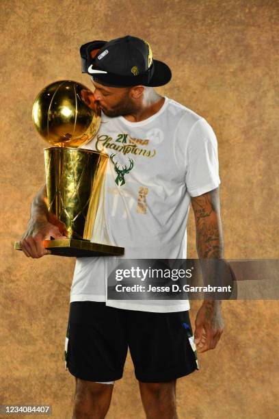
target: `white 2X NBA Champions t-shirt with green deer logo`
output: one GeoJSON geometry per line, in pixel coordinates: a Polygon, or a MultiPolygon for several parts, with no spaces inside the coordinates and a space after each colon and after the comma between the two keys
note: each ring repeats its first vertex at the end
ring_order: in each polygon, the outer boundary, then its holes
{"type": "MultiPolygon", "coordinates": [[[[156,114],[140,122],[102,113],[84,149],[114,154],[108,160],[92,242],[125,248],[128,259],[185,259],[191,196],[220,184],[217,140],[202,116],[165,97],[156,114]],[[126,166],[126,172],[116,168],[126,166]]],[[[107,257],[78,257],[72,301],[146,312],[181,312],[188,300],[107,300],[107,257]]]]}

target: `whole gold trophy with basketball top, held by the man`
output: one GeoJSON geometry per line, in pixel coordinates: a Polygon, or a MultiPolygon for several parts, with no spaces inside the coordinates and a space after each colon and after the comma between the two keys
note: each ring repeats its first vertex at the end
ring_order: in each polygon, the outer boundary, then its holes
{"type": "MultiPolygon", "coordinates": [[[[92,92],[76,81],[55,81],[38,94],[33,105],[34,125],[53,146],[44,149],[49,212],[68,231],[68,238],[44,240],[53,255],[124,254],[123,247],[90,241],[108,156],[77,148],[95,136],[101,123],[101,110],[83,100],[88,94],[92,92]]],[[[14,248],[21,250],[19,242],[14,248]]]]}

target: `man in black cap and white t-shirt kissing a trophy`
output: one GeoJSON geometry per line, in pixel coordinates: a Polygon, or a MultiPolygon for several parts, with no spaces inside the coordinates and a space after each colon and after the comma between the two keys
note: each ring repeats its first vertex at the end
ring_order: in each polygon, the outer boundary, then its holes
{"type": "MultiPolygon", "coordinates": [[[[110,156],[94,240],[124,246],[129,259],[185,258],[191,202],[198,256],[222,259],[217,140],[202,116],[153,89],[170,81],[170,68],[132,36],[88,42],[81,60],[95,88],[83,99],[102,109],[101,128],[85,148],[110,156]]],[[[44,238],[65,235],[43,186],[22,249],[41,257],[50,253],[44,238]]],[[[107,258],[77,258],[66,335],[66,369],[76,377],[73,417],[105,417],[129,346],[146,417],[177,418],[176,379],[198,369],[196,350],[215,348],[224,328],[220,301],[202,303],[194,342],[189,301],[107,300],[106,273],[107,258]]]]}

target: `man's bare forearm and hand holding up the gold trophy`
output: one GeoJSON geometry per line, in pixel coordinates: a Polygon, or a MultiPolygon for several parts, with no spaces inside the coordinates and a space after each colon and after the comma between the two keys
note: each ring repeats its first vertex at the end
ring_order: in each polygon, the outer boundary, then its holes
{"type": "Polygon", "coordinates": [[[68,232],[62,221],[48,210],[47,186],[44,184],[31,203],[31,214],[20,245],[27,257],[42,257],[51,254],[44,249],[44,240],[66,238],[68,232]]]}

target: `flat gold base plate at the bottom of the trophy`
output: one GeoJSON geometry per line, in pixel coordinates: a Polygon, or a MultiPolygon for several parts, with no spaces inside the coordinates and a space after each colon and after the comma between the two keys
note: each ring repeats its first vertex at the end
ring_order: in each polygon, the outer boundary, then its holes
{"type": "MultiPolygon", "coordinates": [[[[124,255],[124,247],[111,246],[90,242],[89,240],[77,240],[72,238],[60,240],[44,240],[44,247],[51,251],[51,255],[90,257],[90,256],[121,256],[124,255]]],[[[19,242],[14,243],[15,250],[22,250],[19,242]]]]}

